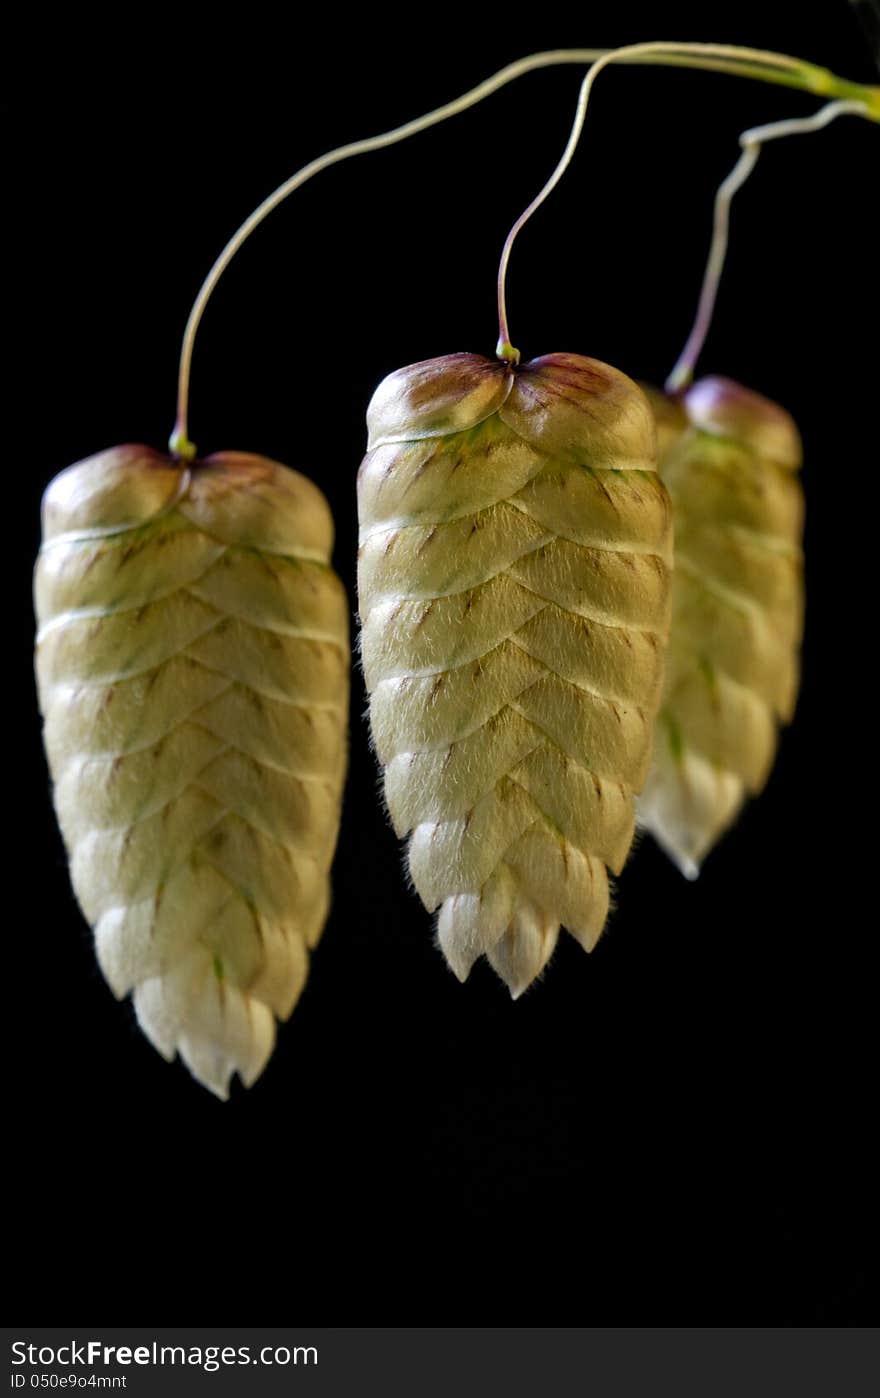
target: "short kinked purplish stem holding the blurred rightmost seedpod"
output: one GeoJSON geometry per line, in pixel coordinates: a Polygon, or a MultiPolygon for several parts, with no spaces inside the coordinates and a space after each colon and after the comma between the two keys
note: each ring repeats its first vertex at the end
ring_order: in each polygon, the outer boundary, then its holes
{"type": "Polygon", "coordinates": [[[806,136],[810,131],[820,131],[824,126],[837,120],[838,116],[869,116],[869,112],[865,102],[828,102],[825,106],[820,108],[818,112],[814,112],[813,116],[789,117],[783,122],[771,122],[767,126],[753,126],[748,131],[741,133],[740,145],[743,147],[743,154],[728,178],[722,180],[718,187],[718,193],[715,194],[712,242],[709,245],[709,256],[702,277],[697,317],[694,320],[693,330],[687,337],[684,350],[679,355],[674,368],[666,380],[667,393],[681,393],[683,389],[687,389],[688,384],[694,382],[694,369],[709,333],[709,326],[712,324],[715,301],[718,298],[718,284],[721,281],[725,257],[728,254],[730,203],[736,192],[743,187],[758,164],[761,147],[767,141],[775,141],[783,136],[806,136]]]}

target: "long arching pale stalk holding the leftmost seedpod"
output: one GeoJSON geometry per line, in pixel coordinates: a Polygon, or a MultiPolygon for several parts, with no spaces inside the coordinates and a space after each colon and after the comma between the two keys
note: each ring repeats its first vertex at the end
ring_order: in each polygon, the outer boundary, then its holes
{"type": "Polygon", "coordinates": [[[788,55],[764,53],[758,49],[743,49],[728,45],[686,43],[634,45],[630,46],[628,50],[553,49],[543,53],[532,53],[525,59],[509,63],[506,67],[471,88],[469,92],[464,92],[462,96],[455,98],[452,102],[446,102],[443,106],[439,106],[424,116],[406,122],[403,126],[397,126],[390,131],[383,131],[381,136],[372,136],[361,141],[351,141],[347,145],[341,145],[337,150],[329,151],[326,155],[320,155],[318,159],[311,161],[301,171],[285,180],[284,185],[274,190],[274,193],[264,199],[259,208],[256,208],[242,224],[238,232],[232,235],[208,271],[199,295],[196,296],[183,331],[178,376],[178,417],[175,431],[172,432],[169,442],[172,454],[179,460],[192,460],[196,456],[196,447],[187,436],[190,368],[196,331],[199,330],[199,324],[210,301],[211,292],[242,243],[263,222],[263,219],[288,197],[288,194],[292,194],[294,190],[299,189],[301,185],[305,185],[305,182],[313,175],[329,169],[330,165],[348,159],[351,155],[362,155],[369,151],[382,150],[386,145],[393,145],[397,141],[403,141],[410,136],[425,131],[428,127],[437,126],[452,116],[457,116],[460,112],[466,112],[469,108],[476,106],[484,98],[491,96],[494,92],[499,91],[499,88],[526,73],[557,64],[585,64],[595,63],[597,60],[610,60],[611,57],[621,63],[663,63],[673,67],[708,69],[709,71],[729,73],[737,77],[755,78],[762,82],[776,82],[788,87],[796,87],[806,92],[821,92],[828,96],[841,98],[859,98],[869,108],[872,119],[880,122],[880,88],[848,82],[844,78],[838,78],[827,69],[816,67],[811,63],[803,63],[802,60],[792,59],[788,55]]]}

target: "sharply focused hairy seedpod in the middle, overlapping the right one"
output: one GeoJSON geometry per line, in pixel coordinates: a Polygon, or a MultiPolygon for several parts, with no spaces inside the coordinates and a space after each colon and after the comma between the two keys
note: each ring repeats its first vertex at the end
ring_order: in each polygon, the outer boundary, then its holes
{"type": "Polygon", "coordinates": [[[358,477],[369,717],[409,868],[463,980],[589,951],[630,850],[669,626],[651,408],[607,365],[392,373],[358,477]]]}

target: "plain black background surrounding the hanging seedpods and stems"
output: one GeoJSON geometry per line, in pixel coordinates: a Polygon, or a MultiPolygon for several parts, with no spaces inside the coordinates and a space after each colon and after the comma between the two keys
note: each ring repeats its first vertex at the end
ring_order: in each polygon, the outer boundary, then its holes
{"type": "MultiPolygon", "coordinates": [[[[25,46],[8,109],[22,235],[6,463],[7,698],[24,698],[6,790],[15,1316],[870,1320],[876,126],[839,122],[762,157],[702,359],[782,401],[804,436],[796,720],[697,885],[641,844],[589,959],[564,938],[518,1004],[484,965],[464,987],[450,976],[376,797],[355,674],[333,914],[263,1079],[215,1102],[159,1060],[99,976],[29,678],[42,489],[116,442],[164,445],[200,278],[287,173],[540,48],[712,39],[877,81],[849,7],[382,10],[357,28],[329,15],[323,34],[313,13],[248,7],[200,36],[158,11],[120,22],[80,18],[25,46]]],[[[578,81],[522,78],[319,176],[253,236],[206,315],[193,439],[312,475],[353,598],[369,394],[402,363],[492,352],[501,243],[565,143],[578,81]]],[[[816,102],[645,69],[604,74],[593,102],[515,250],[512,337],[526,358],[571,350],[659,380],[690,326],[736,134],[816,102]]]]}

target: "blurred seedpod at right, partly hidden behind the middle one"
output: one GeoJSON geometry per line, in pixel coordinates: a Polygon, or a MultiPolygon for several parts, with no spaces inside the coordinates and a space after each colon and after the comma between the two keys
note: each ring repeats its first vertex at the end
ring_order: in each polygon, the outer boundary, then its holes
{"type": "Polygon", "coordinates": [[[679,411],[683,431],[660,457],[676,528],[673,624],[639,823],[695,878],[762,790],[797,698],[802,450],[788,412],[729,379],[700,380],[663,421],[679,411]]]}

